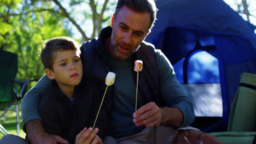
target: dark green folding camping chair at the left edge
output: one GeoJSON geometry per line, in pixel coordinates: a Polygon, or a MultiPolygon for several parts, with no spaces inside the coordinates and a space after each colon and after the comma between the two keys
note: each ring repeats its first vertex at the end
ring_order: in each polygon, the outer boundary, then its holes
{"type": "MultiPolygon", "coordinates": [[[[27,83],[34,80],[15,81],[16,73],[18,71],[18,57],[15,53],[0,50],[0,68],[0,110],[4,110],[0,118],[15,105],[17,135],[19,135],[19,104],[22,96],[26,93],[27,83]],[[16,88],[14,89],[15,83],[16,88]],[[19,86],[21,88],[18,92],[19,86]]],[[[9,134],[1,123],[0,131],[4,135],[9,134]]]]}

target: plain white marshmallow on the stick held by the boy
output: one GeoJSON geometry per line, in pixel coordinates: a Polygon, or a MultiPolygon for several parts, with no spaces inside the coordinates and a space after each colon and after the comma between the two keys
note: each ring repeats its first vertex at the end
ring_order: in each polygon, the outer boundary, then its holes
{"type": "MultiPolygon", "coordinates": [[[[115,73],[108,72],[108,74],[107,74],[107,76],[106,76],[106,80],[105,80],[105,83],[106,83],[107,87],[106,87],[106,90],[105,90],[105,92],[104,92],[103,98],[102,98],[102,100],[101,100],[101,105],[102,105],[103,100],[104,100],[104,97],[105,97],[105,95],[106,95],[108,86],[113,85],[114,82],[115,82],[115,73]]],[[[98,108],[98,113],[100,113],[101,105],[100,105],[100,108],[98,108]]],[[[95,126],[96,121],[97,121],[97,118],[98,118],[98,113],[97,113],[96,119],[95,119],[95,121],[94,121],[94,126],[95,126]]],[[[94,127],[92,127],[92,129],[94,129],[94,127]]]]}

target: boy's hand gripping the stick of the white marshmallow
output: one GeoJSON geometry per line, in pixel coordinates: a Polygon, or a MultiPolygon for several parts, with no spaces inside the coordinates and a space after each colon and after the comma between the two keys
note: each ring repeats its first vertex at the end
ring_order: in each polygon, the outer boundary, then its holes
{"type": "Polygon", "coordinates": [[[103,144],[101,138],[96,135],[97,133],[98,128],[92,130],[92,128],[85,127],[75,138],[75,144],[103,144]]]}

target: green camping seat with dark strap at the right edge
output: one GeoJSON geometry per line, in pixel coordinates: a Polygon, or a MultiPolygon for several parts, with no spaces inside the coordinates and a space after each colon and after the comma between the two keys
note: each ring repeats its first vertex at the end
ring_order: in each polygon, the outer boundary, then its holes
{"type": "Polygon", "coordinates": [[[256,74],[243,73],[232,104],[228,131],[211,133],[226,144],[253,143],[256,140],[256,74]]]}

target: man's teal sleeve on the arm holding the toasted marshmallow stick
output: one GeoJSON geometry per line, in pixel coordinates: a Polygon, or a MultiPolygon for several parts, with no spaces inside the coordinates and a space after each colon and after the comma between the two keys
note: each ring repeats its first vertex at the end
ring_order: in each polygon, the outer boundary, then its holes
{"type": "Polygon", "coordinates": [[[158,63],[161,96],[167,106],[178,107],[181,110],[183,114],[181,127],[188,126],[195,119],[193,104],[176,79],[173,67],[164,53],[158,50],[155,56],[158,63]]]}

